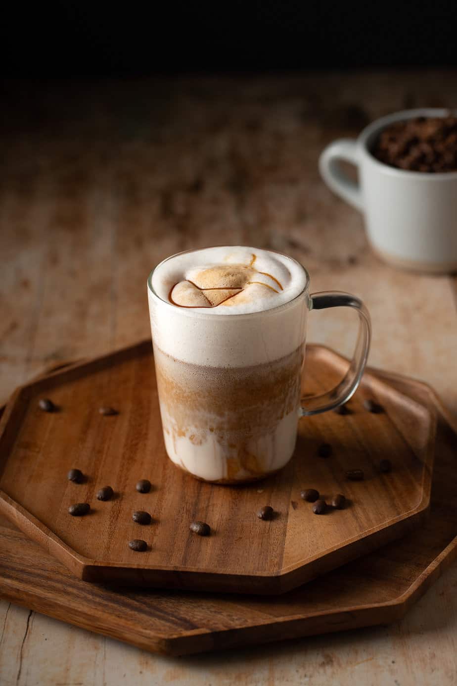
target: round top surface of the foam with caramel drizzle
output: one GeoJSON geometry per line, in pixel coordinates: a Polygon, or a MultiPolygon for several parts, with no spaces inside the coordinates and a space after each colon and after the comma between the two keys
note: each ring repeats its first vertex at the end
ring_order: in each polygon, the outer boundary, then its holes
{"type": "Polygon", "coordinates": [[[152,277],[162,300],[213,314],[247,314],[298,296],[306,274],[295,260],[257,248],[204,248],[165,260],[152,277]]]}

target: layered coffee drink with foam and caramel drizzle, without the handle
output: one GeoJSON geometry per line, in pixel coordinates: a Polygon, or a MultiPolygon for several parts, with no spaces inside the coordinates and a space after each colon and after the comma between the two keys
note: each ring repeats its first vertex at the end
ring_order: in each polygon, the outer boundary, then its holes
{"type": "Polygon", "coordinates": [[[149,278],[169,458],[210,482],[256,480],[295,448],[308,279],[268,250],[194,250],[149,278]]]}

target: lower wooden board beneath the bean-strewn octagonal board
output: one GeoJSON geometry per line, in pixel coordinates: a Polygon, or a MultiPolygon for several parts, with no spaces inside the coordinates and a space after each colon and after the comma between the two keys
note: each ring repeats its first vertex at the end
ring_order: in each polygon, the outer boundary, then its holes
{"type": "Polygon", "coordinates": [[[129,590],[76,579],[0,515],[0,596],[173,655],[400,619],[457,558],[457,434],[430,388],[404,377],[384,379],[419,402],[436,401],[439,412],[430,519],[401,541],[280,597],[129,590]]]}

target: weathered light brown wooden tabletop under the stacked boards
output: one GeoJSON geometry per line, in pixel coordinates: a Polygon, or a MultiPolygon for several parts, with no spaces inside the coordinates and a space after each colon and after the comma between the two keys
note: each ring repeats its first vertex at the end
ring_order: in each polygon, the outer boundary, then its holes
{"type": "MultiPolygon", "coordinates": [[[[7,84],[0,132],[0,400],[51,364],[149,333],[146,278],[209,244],[288,252],[312,290],[364,298],[370,363],[425,379],[457,413],[457,281],[399,272],[317,158],[412,106],[457,106],[457,73],[323,73],[7,84]]],[[[348,354],[351,313],[310,317],[348,354]],[[349,328],[349,332],[347,329],[349,328]]],[[[171,659],[0,603],[2,686],[441,683],[457,673],[457,567],[393,626],[171,659]]]]}

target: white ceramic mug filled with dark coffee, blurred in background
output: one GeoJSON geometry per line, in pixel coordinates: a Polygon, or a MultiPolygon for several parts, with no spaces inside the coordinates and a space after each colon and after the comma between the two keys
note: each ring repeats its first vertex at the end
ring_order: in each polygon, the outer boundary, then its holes
{"type": "Polygon", "coordinates": [[[404,110],[377,119],[358,139],[339,139],[319,159],[321,176],[340,198],[365,216],[371,246],[384,260],[406,269],[457,270],[457,171],[404,171],[378,161],[371,150],[389,124],[414,117],[444,117],[449,110],[404,110]],[[341,169],[355,165],[358,182],[341,169]]]}

